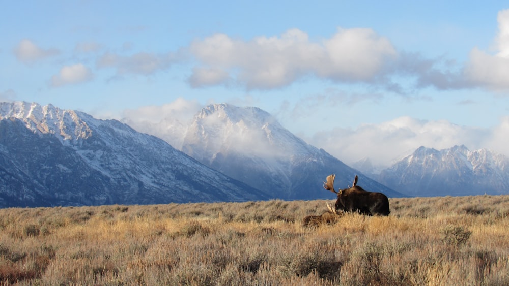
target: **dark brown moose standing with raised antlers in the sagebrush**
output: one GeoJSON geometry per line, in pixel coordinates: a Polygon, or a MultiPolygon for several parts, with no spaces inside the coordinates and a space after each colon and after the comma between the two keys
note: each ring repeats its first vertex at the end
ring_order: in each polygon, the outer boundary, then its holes
{"type": "Polygon", "coordinates": [[[346,189],[334,190],[336,175],[327,176],[323,187],[337,194],[336,210],[345,212],[359,212],[366,215],[389,215],[389,199],[382,193],[368,192],[357,185],[358,177],[355,176],[353,186],[346,189]]]}

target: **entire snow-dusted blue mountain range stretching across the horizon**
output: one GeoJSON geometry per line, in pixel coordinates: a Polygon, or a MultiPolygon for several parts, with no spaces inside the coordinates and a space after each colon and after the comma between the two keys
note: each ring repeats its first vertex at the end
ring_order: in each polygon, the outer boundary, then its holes
{"type": "Polygon", "coordinates": [[[366,159],[354,169],[256,107],[213,104],[189,122],[129,125],[0,103],[0,207],[334,199],[322,188],[332,173],[336,188],[358,175],[388,197],[509,190],[508,160],[489,150],[420,147],[389,168],[366,159]]]}

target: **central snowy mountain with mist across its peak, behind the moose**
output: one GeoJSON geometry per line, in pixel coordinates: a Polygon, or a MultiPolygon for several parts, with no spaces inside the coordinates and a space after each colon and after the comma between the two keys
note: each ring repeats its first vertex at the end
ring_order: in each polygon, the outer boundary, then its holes
{"type": "MultiPolygon", "coordinates": [[[[165,120],[171,124],[177,122],[165,120]]],[[[283,128],[269,113],[256,108],[227,104],[209,105],[197,113],[181,138],[155,134],[168,142],[182,142],[181,150],[201,163],[280,199],[334,198],[323,189],[326,176],[336,174],[336,188],[359,185],[405,196],[367,178],[326,151],[305,143],[283,128]]],[[[171,125],[158,130],[173,130],[171,125]]]]}

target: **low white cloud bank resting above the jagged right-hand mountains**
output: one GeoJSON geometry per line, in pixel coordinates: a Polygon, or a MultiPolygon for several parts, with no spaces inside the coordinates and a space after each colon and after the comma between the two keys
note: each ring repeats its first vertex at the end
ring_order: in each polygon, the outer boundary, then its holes
{"type": "MultiPolygon", "coordinates": [[[[464,144],[471,150],[496,147],[504,139],[509,139],[509,135],[499,135],[497,129],[502,126],[503,122],[490,130],[460,126],[446,120],[429,121],[404,116],[379,124],[362,124],[355,129],[322,131],[306,141],[347,164],[369,157],[377,165],[388,165],[420,146],[444,149],[464,144]]],[[[494,148],[498,152],[505,149],[494,148]]]]}

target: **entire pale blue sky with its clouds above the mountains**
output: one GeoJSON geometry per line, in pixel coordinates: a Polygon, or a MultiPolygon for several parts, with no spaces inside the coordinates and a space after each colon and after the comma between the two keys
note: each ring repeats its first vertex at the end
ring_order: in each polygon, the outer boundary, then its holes
{"type": "Polygon", "coordinates": [[[209,103],[257,106],[347,163],[387,164],[420,145],[509,155],[507,9],[499,1],[4,2],[0,100],[152,124],[209,103]]]}

